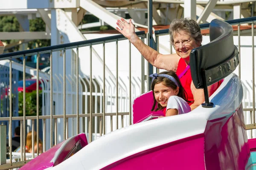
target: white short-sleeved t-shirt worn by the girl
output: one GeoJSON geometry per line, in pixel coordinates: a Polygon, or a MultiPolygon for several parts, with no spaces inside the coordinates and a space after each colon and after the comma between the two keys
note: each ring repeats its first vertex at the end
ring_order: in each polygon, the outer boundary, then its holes
{"type": "Polygon", "coordinates": [[[178,114],[188,113],[191,111],[189,104],[179,96],[170,96],[166,106],[168,109],[177,109],[178,114]]]}

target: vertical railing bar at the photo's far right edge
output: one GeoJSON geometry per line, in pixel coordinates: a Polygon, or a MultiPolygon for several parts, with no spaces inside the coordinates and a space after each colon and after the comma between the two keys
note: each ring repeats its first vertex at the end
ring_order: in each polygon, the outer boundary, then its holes
{"type": "Polygon", "coordinates": [[[255,81],[254,81],[254,23],[252,23],[252,54],[253,54],[253,123],[255,123],[255,81]]]}

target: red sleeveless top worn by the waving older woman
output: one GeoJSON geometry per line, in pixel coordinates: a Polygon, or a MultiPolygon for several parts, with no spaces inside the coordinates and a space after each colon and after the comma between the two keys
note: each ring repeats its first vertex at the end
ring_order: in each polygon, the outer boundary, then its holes
{"type": "MultiPolygon", "coordinates": [[[[186,69],[186,67],[187,67],[187,65],[186,65],[185,60],[180,58],[179,63],[178,63],[178,67],[177,67],[177,71],[176,71],[177,76],[179,76],[186,69]]],[[[180,78],[180,82],[181,82],[182,87],[186,91],[186,94],[187,94],[186,99],[188,101],[192,101],[192,102],[188,102],[188,104],[192,105],[194,103],[194,96],[193,96],[192,91],[191,91],[192,77],[191,77],[190,68],[180,78]]],[[[223,82],[223,80],[215,83],[216,86],[215,86],[215,88],[212,89],[212,91],[210,91],[209,96],[211,96],[217,90],[217,88],[221,85],[222,82],[223,82]]]]}

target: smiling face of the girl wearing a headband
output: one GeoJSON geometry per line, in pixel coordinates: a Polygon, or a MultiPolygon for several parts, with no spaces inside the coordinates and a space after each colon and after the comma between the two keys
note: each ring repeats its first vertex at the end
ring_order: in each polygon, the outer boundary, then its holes
{"type": "Polygon", "coordinates": [[[157,83],[154,86],[154,97],[162,107],[166,107],[169,97],[176,96],[178,92],[178,87],[174,90],[164,85],[163,82],[157,83]]]}

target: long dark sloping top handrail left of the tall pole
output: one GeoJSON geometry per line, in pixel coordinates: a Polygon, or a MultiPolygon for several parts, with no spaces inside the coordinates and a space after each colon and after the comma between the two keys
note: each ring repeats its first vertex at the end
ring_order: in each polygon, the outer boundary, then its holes
{"type": "MultiPolygon", "coordinates": [[[[145,31],[137,31],[136,34],[139,37],[145,37],[145,31]]],[[[96,38],[92,40],[84,40],[84,41],[78,41],[78,42],[70,42],[66,44],[60,44],[60,45],[52,45],[47,47],[41,47],[41,48],[35,48],[35,49],[29,49],[24,51],[16,51],[6,54],[0,54],[0,61],[5,59],[12,59],[12,58],[18,58],[18,57],[24,57],[24,56],[31,56],[36,54],[44,54],[44,53],[50,53],[54,51],[61,51],[61,50],[68,50],[72,48],[80,48],[90,45],[97,45],[107,43],[107,42],[115,42],[116,40],[126,40],[127,38],[121,35],[114,35],[110,37],[102,37],[102,38],[96,38]]]]}

